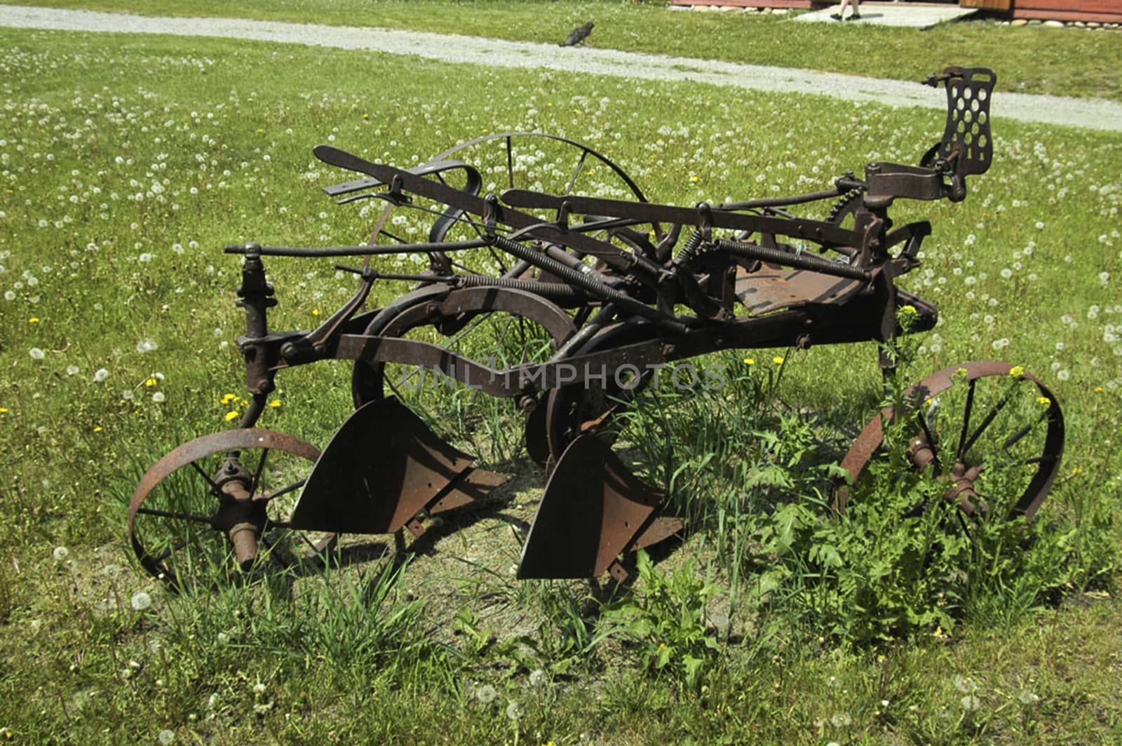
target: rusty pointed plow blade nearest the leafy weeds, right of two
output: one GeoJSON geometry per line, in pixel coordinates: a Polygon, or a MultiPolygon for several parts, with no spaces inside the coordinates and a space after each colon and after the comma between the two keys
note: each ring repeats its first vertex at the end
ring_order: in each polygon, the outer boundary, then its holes
{"type": "Polygon", "coordinates": [[[618,556],[669,538],[681,528],[656,518],[665,496],[645,485],[595,435],[564,450],[522,549],[518,579],[598,578],[617,581],[627,571],[618,556]]]}

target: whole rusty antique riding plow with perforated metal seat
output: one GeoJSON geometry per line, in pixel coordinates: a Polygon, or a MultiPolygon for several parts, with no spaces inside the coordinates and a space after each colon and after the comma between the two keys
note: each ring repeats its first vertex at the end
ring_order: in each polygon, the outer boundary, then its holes
{"type": "MultiPolygon", "coordinates": [[[[531,458],[552,469],[518,575],[625,578],[629,551],[681,528],[603,438],[628,397],[660,366],[717,350],[888,342],[931,329],[935,306],[896,287],[920,264],[930,224],[896,227],[888,212],[899,199],[966,196],[967,176],[992,158],[994,80],[985,68],[948,67],[927,81],[946,86],[948,112],[941,141],[919,166],[872,163],[864,178],[848,173],[825,191],[720,205],[650,203],[606,157],[545,135],[493,135],[411,168],[316,147],[320,160],[362,175],[329,195],[384,208],[373,240],[227,247],[242,256],[247,326],[238,344],[251,402],[237,427],[181,445],[144,475],[128,514],[137,558],[174,583],[210,565],[249,569],[279,552],[277,532],[316,547],[340,533],[422,534],[426,518],[504,480],[422,417],[431,397],[453,395],[443,384],[454,381],[475,406],[508,403],[503,429],[517,429],[531,458]],[[574,167],[558,172],[552,192],[518,188],[524,159],[541,160],[546,146],[567,148],[574,167]],[[475,163],[485,147],[499,153],[499,166],[475,163]],[[594,167],[615,184],[608,197],[579,193],[594,167]],[[505,181],[499,195],[485,193],[493,177],[505,181]],[[824,202],[833,203],[825,219],[792,214],[824,202]],[[427,240],[392,236],[390,213],[410,210],[434,215],[427,240]],[[365,260],[339,266],[358,289],[316,329],[278,332],[267,324],[276,300],[263,265],[273,256],[365,260]],[[423,266],[386,264],[402,258],[423,266]],[[373,287],[396,280],[414,287],[366,307],[373,287]],[[900,310],[909,306],[904,329],[900,310]],[[356,411],[322,452],[256,426],[277,374],[327,359],[353,361],[356,411]],[[416,384],[424,374],[441,385],[416,384]]],[[[883,352],[881,365],[892,366],[883,352]]],[[[945,480],[946,499],[974,513],[1001,490],[1012,496],[1010,513],[1033,515],[1064,442],[1059,406],[1037,378],[968,362],[923,379],[907,400],[910,409],[884,414],[914,423],[910,459],[945,480]],[[959,402],[948,421],[931,402],[951,389],[959,402]]],[[[854,478],[877,453],[889,416],[875,417],[845,457],[854,478]]],[[[839,491],[838,509],[845,500],[839,491]]]]}

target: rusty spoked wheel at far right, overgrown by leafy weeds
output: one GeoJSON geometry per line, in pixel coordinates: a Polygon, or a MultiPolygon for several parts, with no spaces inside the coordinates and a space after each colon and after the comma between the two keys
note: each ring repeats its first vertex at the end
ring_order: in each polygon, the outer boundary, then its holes
{"type": "MultiPolygon", "coordinates": [[[[945,499],[967,514],[1036,514],[1064,452],[1064,415],[1040,379],[1005,362],[967,362],[928,376],[905,400],[908,457],[946,482],[945,499]]],[[[883,453],[891,416],[886,409],[874,417],[843,460],[855,482],[883,453]]],[[[839,490],[839,510],[847,500],[848,490],[839,490]]]]}

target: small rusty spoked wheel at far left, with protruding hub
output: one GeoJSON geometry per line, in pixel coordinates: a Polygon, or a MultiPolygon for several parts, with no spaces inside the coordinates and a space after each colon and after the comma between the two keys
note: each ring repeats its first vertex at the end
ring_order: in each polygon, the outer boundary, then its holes
{"type": "Polygon", "coordinates": [[[184,590],[320,552],[332,535],[287,525],[319,455],[312,444],[270,430],[232,430],[184,443],[157,461],[132,494],[128,531],[137,559],[153,577],[184,590]]]}

